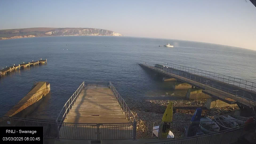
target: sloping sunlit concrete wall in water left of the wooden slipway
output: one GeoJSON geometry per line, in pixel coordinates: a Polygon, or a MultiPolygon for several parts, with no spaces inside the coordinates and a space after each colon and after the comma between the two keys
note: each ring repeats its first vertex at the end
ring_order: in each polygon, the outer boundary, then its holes
{"type": "Polygon", "coordinates": [[[11,110],[9,110],[4,116],[14,116],[19,112],[22,112],[28,106],[38,102],[44,96],[50,92],[50,84],[48,82],[37,82],[34,84],[30,92],[18,104],[16,104],[11,110]]]}

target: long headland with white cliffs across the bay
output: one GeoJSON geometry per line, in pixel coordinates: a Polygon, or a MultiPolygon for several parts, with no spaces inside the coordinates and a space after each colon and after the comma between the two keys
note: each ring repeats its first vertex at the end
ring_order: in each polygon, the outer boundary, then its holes
{"type": "Polygon", "coordinates": [[[123,36],[111,30],[98,28],[21,28],[0,30],[0,40],[39,36],[123,36]]]}

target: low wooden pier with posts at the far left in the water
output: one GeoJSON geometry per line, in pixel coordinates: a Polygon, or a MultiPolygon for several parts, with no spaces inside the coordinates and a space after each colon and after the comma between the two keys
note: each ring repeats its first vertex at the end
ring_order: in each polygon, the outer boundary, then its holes
{"type": "Polygon", "coordinates": [[[12,72],[14,70],[17,70],[17,69],[20,69],[20,68],[26,68],[26,67],[30,67],[31,65],[34,66],[34,65],[39,65],[39,64],[46,64],[47,63],[47,59],[46,60],[42,60],[42,58],[40,60],[37,60],[37,61],[32,61],[32,62],[23,62],[23,64],[18,64],[18,65],[13,65],[13,66],[9,66],[2,70],[0,70],[0,76],[2,75],[6,75],[7,72],[12,72]]]}

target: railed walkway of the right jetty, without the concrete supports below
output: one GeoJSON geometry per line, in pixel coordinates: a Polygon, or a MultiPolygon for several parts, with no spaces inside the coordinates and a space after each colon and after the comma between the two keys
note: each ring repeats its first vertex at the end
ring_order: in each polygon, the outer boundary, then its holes
{"type": "Polygon", "coordinates": [[[251,108],[255,108],[256,106],[256,98],[253,98],[251,94],[248,94],[241,90],[231,90],[229,88],[213,84],[207,79],[197,77],[186,72],[180,72],[179,70],[163,68],[161,66],[157,66],[147,62],[143,62],[142,65],[157,72],[161,72],[162,74],[177,78],[178,80],[191,84],[192,86],[195,86],[197,88],[200,88],[204,91],[204,93],[221,99],[224,102],[228,102],[230,104],[239,102],[243,106],[249,106],[251,108]]]}

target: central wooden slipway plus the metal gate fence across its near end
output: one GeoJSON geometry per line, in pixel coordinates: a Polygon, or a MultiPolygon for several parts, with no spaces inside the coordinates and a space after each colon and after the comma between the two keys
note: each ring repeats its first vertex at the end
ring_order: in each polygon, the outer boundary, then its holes
{"type": "Polygon", "coordinates": [[[109,88],[86,86],[59,134],[61,139],[132,139],[132,127],[109,88]]]}

